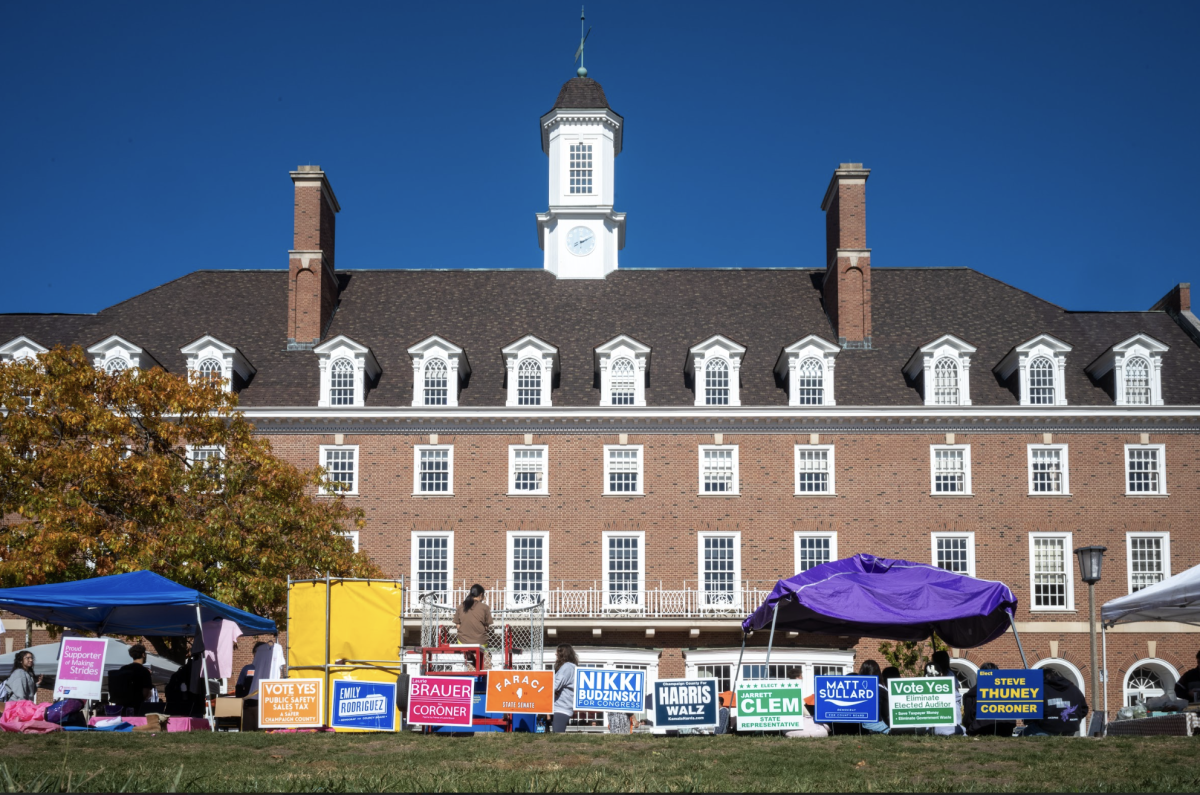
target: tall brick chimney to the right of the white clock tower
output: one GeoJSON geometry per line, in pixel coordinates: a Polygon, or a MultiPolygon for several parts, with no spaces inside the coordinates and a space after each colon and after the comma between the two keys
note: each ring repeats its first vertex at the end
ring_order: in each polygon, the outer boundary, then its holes
{"type": "Polygon", "coordinates": [[[826,214],[824,304],[844,348],[871,347],[871,250],[866,247],[866,178],[863,163],[833,173],[826,214]]]}

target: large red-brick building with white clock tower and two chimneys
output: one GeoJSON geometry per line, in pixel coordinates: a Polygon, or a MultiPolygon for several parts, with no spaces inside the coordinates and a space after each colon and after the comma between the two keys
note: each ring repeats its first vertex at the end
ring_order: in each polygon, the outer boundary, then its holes
{"type": "MultiPolygon", "coordinates": [[[[624,120],[580,77],[539,126],[541,270],[338,269],[341,208],[302,166],[287,271],[0,316],[0,355],[217,371],[278,453],[344,484],[354,543],[414,592],[545,599],[548,647],[652,677],[731,679],[776,579],[871,552],[1004,581],[1031,664],[1086,692],[1072,550],[1108,546],[1100,602],[1200,563],[1188,285],[1074,312],[968,268],[872,269],[859,163],[833,173],[810,268],[620,270],[624,120]]],[[[1174,685],[1196,632],[1110,633],[1110,710],[1174,685]]],[[[967,680],[1019,665],[1012,638],[954,654],[967,680]]],[[[766,673],[869,657],[870,639],[785,636],[766,673]]]]}

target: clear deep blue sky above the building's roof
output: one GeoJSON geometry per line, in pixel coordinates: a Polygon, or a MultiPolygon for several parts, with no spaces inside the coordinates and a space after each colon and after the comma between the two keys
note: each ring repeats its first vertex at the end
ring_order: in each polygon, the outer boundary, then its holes
{"type": "MultiPolygon", "coordinates": [[[[0,312],[286,268],[299,163],[341,268],[540,268],[538,118],[578,2],[11,2],[0,312]]],[[[1200,281],[1200,4],[588,5],[628,130],[623,268],[823,267],[862,161],[872,264],[1068,309],[1200,281]]]]}

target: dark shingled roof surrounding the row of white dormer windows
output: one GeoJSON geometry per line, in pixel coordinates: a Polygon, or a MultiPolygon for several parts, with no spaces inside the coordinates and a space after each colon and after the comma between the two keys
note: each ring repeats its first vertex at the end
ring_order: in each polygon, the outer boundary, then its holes
{"type": "MultiPolygon", "coordinates": [[[[557,280],[541,269],[350,270],[329,337],[344,334],[371,347],[383,375],[368,406],[412,405],[407,348],[437,334],[462,346],[472,375],[464,406],[503,406],[509,342],[526,335],[559,349],[556,406],[600,402],[593,348],[628,334],[650,346],[646,400],[690,406],[688,348],[722,334],[746,346],[744,406],[786,406],[773,366],[780,349],[808,334],[835,340],[821,303],[823,271],[811,269],[629,269],[605,280],[557,280]]],[[[1165,312],[1069,312],[966,268],[875,268],[874,348],[838,355],[840,406],[917,406],[917,385],[902,367],[922,345],[954,334],[978,347],[972,357],[976,406],[1018,404],[1013,378],[992,367],[1013,346],[1052,334],[1067,354],[1067,400],[1111,406],[1105,385],[1084,369],[1100,353],[1142,331],[1170,346],[1163,357],[1163,398],[1200,405],[1200,346],[1165,312]]],[[[179,349],[204,334],[236,346],[258,373],[241,391],[244,406],[316,406],[317,355],[287,352],[287,271],[202,270],[96,315],[0,315],[0,343],[25,335],[41,345],[94,345],[119,334],[172,372],[179,349]]]]}

